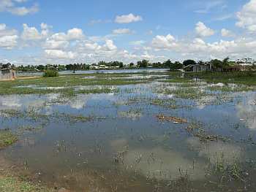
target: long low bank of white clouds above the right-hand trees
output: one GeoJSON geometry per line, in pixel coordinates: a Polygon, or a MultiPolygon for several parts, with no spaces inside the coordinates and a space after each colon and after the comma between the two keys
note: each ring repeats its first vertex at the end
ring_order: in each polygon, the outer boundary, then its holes
{"type": "Polygon", "coordinates": [[[236,37],[230,41],[219,40],[209,43],[201,38],[173,39],[171,36],[157,36],[152,39],[151,47],[157,51],[155,54],[165,50],[168,55],[173,53],[176,58],[181,59],[206,60],[227,56],[236,59],[256,56],[256,41],[253,37],[236,37]]]}

